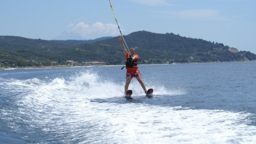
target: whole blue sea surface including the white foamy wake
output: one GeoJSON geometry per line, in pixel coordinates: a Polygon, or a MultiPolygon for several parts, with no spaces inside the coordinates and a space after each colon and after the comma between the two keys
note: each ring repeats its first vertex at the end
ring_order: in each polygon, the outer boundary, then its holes
{"type": "Polygon", "coordinates": [[[0,71],[0,143],[255,143],[256,62],[0,71]]]}

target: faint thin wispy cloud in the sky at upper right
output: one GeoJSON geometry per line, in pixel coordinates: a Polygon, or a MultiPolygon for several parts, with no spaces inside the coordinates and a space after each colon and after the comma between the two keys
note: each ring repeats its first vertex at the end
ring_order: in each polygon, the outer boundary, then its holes
{"type": "Polygon", "coordinates": [[[169,12],[172,17],[181,19],[192,19],[192,20],[223,20],[218,10],[211,9],[195,9],[195,10],[184,10],[178,12],[169,12]]]}

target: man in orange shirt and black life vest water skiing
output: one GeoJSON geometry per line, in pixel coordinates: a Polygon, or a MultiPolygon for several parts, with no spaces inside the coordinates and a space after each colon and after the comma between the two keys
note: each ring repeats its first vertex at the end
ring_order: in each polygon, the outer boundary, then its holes
{"type": "Polygon", "coordinates": [[[127,92],[129,84],[130,84],[131,79],[133,77],[137,78],[137,80],[140,83],[142,89],[145,91],[145,93],[147,93],[146,86],[142,81],[140,71],[139,71],[138,66],[137,66],[138,65],[138,60],[139,60],[139,55],[135,54],[135,49],[134,48],[130,49],[131,54],[129,52],[127,52],[127,50],[125,49],[125,46],[122,42],[122,37],[121,36],[119,36],[119,42],[122,45],[124,55],[125,55],[125,58],[126,58],[126,66],[125,67],[126,67],[127,70],[126,70],[126,83],[125,83],[125,86],[124,86],[124,93],[127,92]]]}

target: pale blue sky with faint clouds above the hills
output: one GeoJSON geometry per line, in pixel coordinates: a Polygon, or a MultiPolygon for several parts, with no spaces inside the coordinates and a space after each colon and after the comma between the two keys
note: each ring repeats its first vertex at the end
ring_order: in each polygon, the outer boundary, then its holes
{"type": "MultiPolygon", "coordinates": [[[[256,53],[255,0],[111,0],[124,35],[147,30],[256,53]]],[[[0,35],[41,39],[118,36],[108,0],[1,0],[0,35]]],[[[129,44],[129,42],[127,42],[129,44]]]]}

